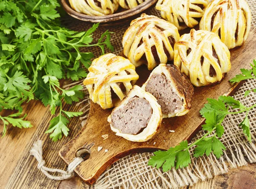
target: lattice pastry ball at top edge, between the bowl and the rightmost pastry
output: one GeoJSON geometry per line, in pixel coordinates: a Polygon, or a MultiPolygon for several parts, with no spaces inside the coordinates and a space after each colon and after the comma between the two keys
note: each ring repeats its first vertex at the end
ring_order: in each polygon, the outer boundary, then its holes
{"type": "Polygon", "coordinates": [[[183,30],[198,25],[208,4],[209,0],[158,0],[156,9],[161,11],[163,19],[183,30]]]}

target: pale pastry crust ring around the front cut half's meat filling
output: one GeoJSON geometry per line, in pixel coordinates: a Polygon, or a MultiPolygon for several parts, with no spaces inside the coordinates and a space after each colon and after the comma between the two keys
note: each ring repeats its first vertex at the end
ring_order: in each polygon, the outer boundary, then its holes
{"type": "Polygon", "coordinates": [[[108,122],[110,123],[111,130],[116,133],[116,135],[121,136],[129,141],[134,141],[134,142],[144,142],[152,138],[156,133],[157,130],[159,129],[162,121],[162,111],[160,105],[157,103],[157,99],[151,95],[150,93],[146,92],[142,88],[140,88],[137,85],[134,85],[133,89],[130,90],[128,95],[123,99],[118,106],[116,106],[111,115],[108,116],[108,122]],[[118,110],[119,108],[124,107],[126,104],[128,104],[129,100],[132,99],[133,97],[139,97],[139,98],[144,98],[146,99],[149,104],[151,105],[152,108],[152,115],[150,120],[148,121],[147,127],[143,129],[143,131],[137,135],[132,135],[132,134],[125,134],[121,133],[120,130],[116,129],[115,127],[112,126],[112,118],[111,115],[114,111],[118,110]]]}

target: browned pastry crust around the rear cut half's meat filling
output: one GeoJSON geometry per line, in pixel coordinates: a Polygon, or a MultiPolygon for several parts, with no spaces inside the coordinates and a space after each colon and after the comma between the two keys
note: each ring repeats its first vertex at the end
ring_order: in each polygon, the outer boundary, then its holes
{"type": "Polygon", "coordinates": [[[166,76],[166,79],[170,81],[172,85],[172,91],[174,91],[177,96],[183,99],[183,108],[174,114],[164,114],[163,118],[174,117],[174,116],[183,116],[189,112],[191,109],[192,96],[194,94],[194,87],[189,82],[186,75],[180,72],[179,68],[175,65],[169,64],[160,64],[158,65],[148,77],[148,80],[141,87],[145,90],[145,87],[153,74],[163,74],[166,76]]]}

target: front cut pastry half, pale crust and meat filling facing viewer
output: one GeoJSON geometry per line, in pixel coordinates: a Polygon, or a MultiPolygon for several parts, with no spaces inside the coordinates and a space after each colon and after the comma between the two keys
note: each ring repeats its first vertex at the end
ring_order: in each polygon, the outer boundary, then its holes
{"type": "Polygon", "coordinates": [[[118,136],[134,141],[147,141],[157,133],[162,121],[157,99],[134,85],[128,95],[108,116],[111,130],[118,136]]]}

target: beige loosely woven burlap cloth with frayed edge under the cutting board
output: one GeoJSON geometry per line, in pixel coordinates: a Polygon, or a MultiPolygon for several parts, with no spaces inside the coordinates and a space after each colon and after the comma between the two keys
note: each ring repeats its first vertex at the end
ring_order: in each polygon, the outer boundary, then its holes
{"type": "MultiPolygon", "coordinates": [[[[247,0],[252,12],[253,22],[252,27],[256,27],[256,0],[247,0]]],[[[146,14],[160,16],[160,12],[155,8],[149,11],[145,11],[146,14]]],[[[65,25],[76,30],[87,30],[91,25],[76,19],[69,17],[65,20],[65,25]]],[[[128,23],[121,23],[119,25],[101,26],[93,35],[95,39],[98,39],[100,35],[106,31],[115,32],[111,36],[112,44],[115,47],[113,54],[119,54],[122,52],[122,36],[125,30],[128,28],[128,23]]],[[[83,49],[88,51],[88,49],[83,49]]],[[[90,48],[98,57],[101,54],[99,48],[90,48]]],[[[255,55],[256,58],[256,55],[255,55]]],[[[249,64],[250,62],[245,62],[249,64]]],[[[79,84],[75,82],[73,84],[79,84]]],[[[70,85],[69,85],[70,87],[70,85]]],[[[256,102],[256,93],[250,93],[249,96],[244,97],[244,92],[256,88],[256,80],[248,80],[245,82],[238,92],[234,95],[235,99],[240,100],[244,105],[251,106],[256,102]]],[[[87,92],[85,90],[85,92],[87,92]]],[[[87,118],[89,100],[84,99],[78,105],[83,107],[84,111],[82,124],[85,123],[87,118]]],[[[183,169],[172,169],[168,172],[163,172],[161,169],[156,169],[148,166],[148,159],[152,153],[136,153],[126,156],[120,159],[109,167],[98,179],[93,186],[88,188],[133,188],[133,189],[163,189],[163,188],[177,188],[180,186],[192,185],[198,181],[212,178],[215,175],[220,175],[229,171],[229,169],[236,168],[237,166],[247,165],[248,162],[256,162],[256,110],[251,110],[248,113],[250,120],[250,131],[252,134],[252,143],[247,141],[242,130],[238,127],[238,124],[244,119],[244,114],[229,115],[223,121],[225,133],[221,138],[221,141],[227,148],[224,151],[224,155],[217,159],[214,155],[208,157],[204,155],[200,158],[194,158],[191,152],[192,164],[183,169]]],[[[204,131],[200,131],[192,141],[200,138],[204,135],[204,131]]]]}

